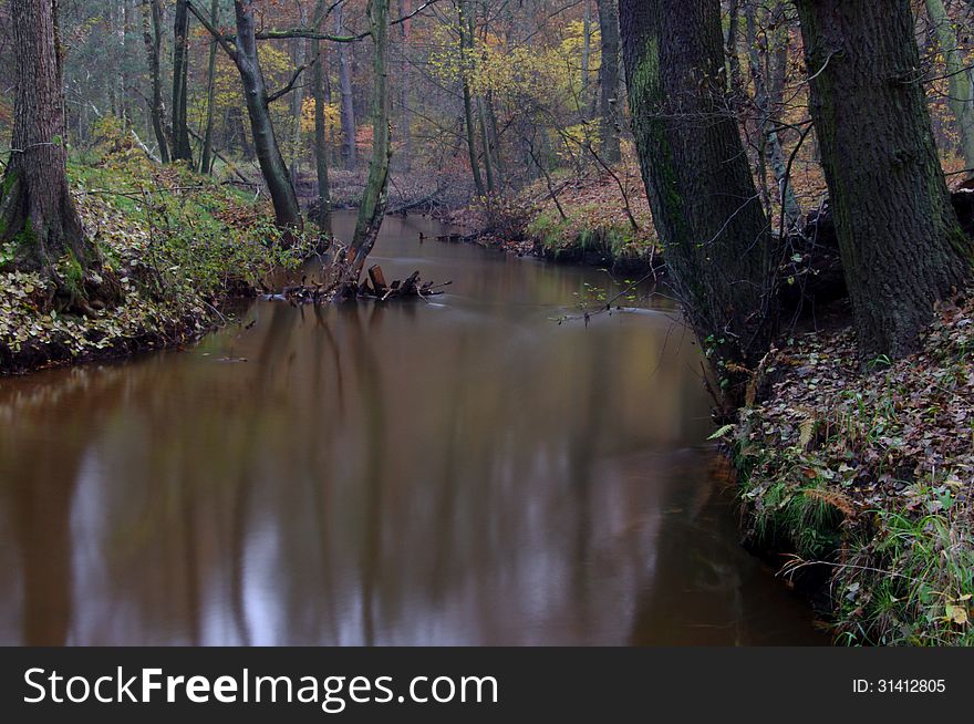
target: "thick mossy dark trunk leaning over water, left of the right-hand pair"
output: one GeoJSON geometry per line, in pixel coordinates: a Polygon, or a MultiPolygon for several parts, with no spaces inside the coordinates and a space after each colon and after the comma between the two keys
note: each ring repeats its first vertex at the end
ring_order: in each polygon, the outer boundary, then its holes
{"type": "Polygon", "coordinates": [[[633,134],[677,294],[739,402],[775,332],[768,223],[728,106],[718,0],[622,0],[633,134]]]}

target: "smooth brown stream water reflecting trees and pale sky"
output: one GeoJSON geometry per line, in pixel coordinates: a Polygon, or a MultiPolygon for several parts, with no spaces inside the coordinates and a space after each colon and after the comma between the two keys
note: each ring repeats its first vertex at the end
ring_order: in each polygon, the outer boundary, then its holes
{"type": "Polygon", "coordinates": [[[419,230],[375,257],[435,303],[0,381],[0,643],[825,643],[738,547],[676,312],[559,325],[604,273],[419,230]]]}

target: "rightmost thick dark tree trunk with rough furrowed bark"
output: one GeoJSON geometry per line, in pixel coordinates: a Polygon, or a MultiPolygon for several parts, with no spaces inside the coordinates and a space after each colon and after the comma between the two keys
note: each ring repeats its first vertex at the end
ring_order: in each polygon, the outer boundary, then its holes
{"type": "Polygon", "coordinates": [[[972,260],[918,79],[910,2],[796,4],[860,352],[903,356],[972,260]]]}

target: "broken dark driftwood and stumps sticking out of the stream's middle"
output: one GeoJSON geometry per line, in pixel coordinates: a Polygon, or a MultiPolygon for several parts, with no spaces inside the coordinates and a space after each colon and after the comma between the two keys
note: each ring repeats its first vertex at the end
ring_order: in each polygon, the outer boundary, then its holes
{"type": "Polygon", "coordinates": [[[328,283],[315,281],[308,277],[301,278],[300,285],[284,287],[278,293],[265,288],[265,299],[287,301],[292,304],[321,304],[331,301],[351,301],[358,299],[372,299],[375,301],[392,301],[394,299],[426,299],[443,293],[443,287],[448,287],[450,281],[436,285],[432,281],[422,281],[419,272],[414,271],[405,279],[396,279],[386,283],[382,267],[373,265],[369,269],[369,278],[362,282],[342,280],[328,283]]]}

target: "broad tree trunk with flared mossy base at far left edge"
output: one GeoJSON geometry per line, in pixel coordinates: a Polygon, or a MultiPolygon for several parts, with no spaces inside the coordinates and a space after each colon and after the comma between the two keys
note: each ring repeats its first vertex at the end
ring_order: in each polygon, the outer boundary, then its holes
{"type": "Polygon", "coordinates": [[[13,0],[17,58],[10,163],[0,184],[0,241],[15,245],[13,266],[55,281],[62,308],[90,312],[117,301],[68,188],[64,95],[56,3],[13,0]]]}

